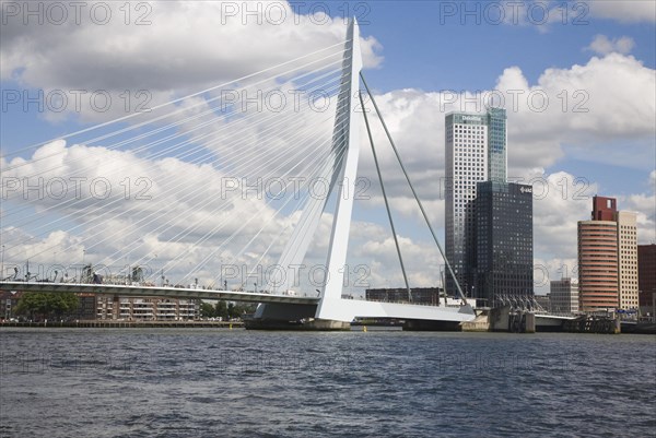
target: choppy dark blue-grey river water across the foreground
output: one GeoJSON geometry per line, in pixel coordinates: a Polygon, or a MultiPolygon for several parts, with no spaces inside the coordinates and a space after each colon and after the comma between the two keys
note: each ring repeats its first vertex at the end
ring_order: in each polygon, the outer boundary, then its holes
{"type": "Polygon", "coordinates": [[[2,437],[656,436],[656,336],[2,329],[2,437]]]}

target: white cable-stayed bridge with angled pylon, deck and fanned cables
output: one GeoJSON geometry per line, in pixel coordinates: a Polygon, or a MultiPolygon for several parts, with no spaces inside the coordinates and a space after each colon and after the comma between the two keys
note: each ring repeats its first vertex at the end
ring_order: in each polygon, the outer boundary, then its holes
{"type": "MultiPolygon", "coordinates": [[[[156,256],[144,254],[148,252],[144,248],[148,248],[149,239],[156,236],[159,241],[164,241],[168,248],[173,248],[169,251],[173,254],[169,253],[166,262],[167,270],[171,270],[176,263],[178,267],[184,265],[186,260],[194,257],[196,264],[189,265],[186,274],[188,279],[192,279],[201,272],[210,272],[211,263],[219,260],[224,261],[227,258],[242,260],[239,258],[248,256],[251,261],[261,262],[270,257],[272,248],[278,246],[282,248],[278,254],[278,275],[276,279],[270,279],[268,284],[262,284],[261,292],[257,291],[257,285],[255,293],[243,289],[229,291],[226,283],[221,280],[214,284],[223,287],[200,288],[172,287],[164,284],[161,286],[144,285],[143,283],[120,285],[107,284],[108,282],[105,281],[97,284],[99,282],[82,282],[80,279],[65,281],[63,276],[61,280],[56,277],[54,281],[38,281],[31,277],[30,273],[23,281],[19,281],[15,275],[13,277],[5,276],[0,282],[0,288],[251,301],[259,303],[254,316],[257,321],[303,320],[311,321],[318,329],[344,328],[355,318],[397,318],[446,323],[473,320],[475,311],[467,304],[466,297],[457,285],[454,272],[444,257],[421,200],[414,191],[379,108],[362,75],[362,55],[356,21],[352,20],[349,23],[344,43],[294,61],[295,63],[290,61],[253,73],[242,78],[239,84],[235,82],[231,85],[238,85],[242,87],[239,90],[250,88],[260,92],[270,87],[278,93],[290,90],[292,84],[305,93],[320,90],[325,95],[331,96],[335,111],[309,111],[309,116],[306,118],[303,118],[298,111],[238,114],[239,106],[248,105],[248,102],[242,102],[237,92],[225,93],[226,87],[219,85],[160,105],[143,121],[128,120],[132,115],[113,121],[131,121],[127,128],[105,132],[106,128],[113,123],[106,122],[97,126],[96,133],[92,132],[93,129],[90,128],[75,134],[95,135],[84,140],[86,145],[96,143],[102,144],[107,151],[127,151],[136,157],[149,158],[150,163],[153,159],[163,162],[175,157],[197,166],[219,167],[222,163],[229,163],[223,170],[225,173],[230,170],[233,175],[238,173],[257,176],[304,175],[308,178],[304,178],[303,181],[329,181],[327,196],[307,196],[309,188],[303,186],[302,182],[300,188],[306,193],[302,199],[295,199],[297,197],[274,199],[263,206],[261,203],[247,203],[247,208],[242,210],[234,203],[231,204],[224,197],[216,197],[216,199],[207,197],[201,191],[196,192],[192,187],[176,186],[162,189],[160,194],[168,196],[172,200],[180,199],[178,197],[186,193],[183,201],[186,205],[186,213],[185,210],[183,213],[178,213],[174,206],[171,206],[173,204],[177,206],[177,203],[173,201],[168,208],[153,208],[152,211],[148,208],[143,209],[144,203],[142,203],[141,210],[138,211],[137,206],[133,206],[137,204],[136,202],[125,206],[121,203],[120,194],[103,199],[99,204],[97,202],[85,203],[85,200],[74,197],[42,205],[19,203],[15,199],[12,201],[11,198],[9,201],[3,200],[5,204],[2,209],[3,222],[14,220],[16,224],[30,232],[15,237],[10,235],[11,229],[9,232],[7,228],[3,229],[3,234],[5,234],[3,242],[7,242],[3,245],[7,246],[8,253],[11,254],[13,251],[13,259],[17,260],[22,254],[24,258],[31,257],[34,260],[39,254],[55,251],[58,251],[59,257],[63,258],[70,257],[71,251],[80,248],[84,248],[83,251],[86,254],[91,254],[99,248],[110,248],[115,252],[104,256],[105,264],[127,259],[127,254],[129,254],[132,265],[143,265],[148,262],[152,263],[153,259],[156,260],[156,256]],[[298,67],[298,62],[303,62],[303,64],[298,67]],[[362,91],[361,84],[364,85],[362,91]],[[363,95],[368,97],[368,102],[373,104],[375,114],[383,125],[400,169],[445,261],[446,274],[450,275],[457,285],[457,293],[461,299],[459,307],[348,299],[342,294],[353,193],[358,191],[360,131],[361,128],[366,128],[396,252],[408,295],[411,297],[411,288],[385,192],[367,111],[364,110],[363,95]],[[229,109],[227,113],[221,115],[219,122],[216,121],[219,111],[216,106],[210,105],[211,103],[220,104],[222,109],[229,109]],[[258,135],[276,133],[278,137],[268,144],[262,144],[261,140],[255,141],[248,149],[244,145],[244,139],[249,134],[246,133],[244,127],[254,127],[258,122],[261,122],[256,129],[258,135]],[[328,129],[321,127],[328,127],[328,129]],[[325,135],[319,135],[321,132],[325,135]],[[110,141],[114,143],[107,145],[110,141]],[[222,157],[222,162],[215,158],[219,156],[222,157]],[[330,199],[331,202],[329,202],[330,199]],[[297,206],[294,208],[292,202],[297,202],[297,206]],[[197,210],[201,208],[210,209],[211,221],[208,221],[207,217],[197,217],[197,210]],[[288,218],[280,221],[280,215],[285,213],[288,218]],[[292,294],[290,291],[294,287],[292,284],[293,269],[304,262],[313,239],[316,239],[320,233],[323,217],[326,217],[324,213],[331,213],[328,215],[331,224],[325,254],[325,282],[316,292],[312,291],[312,296],[307,296],[307,293],[304,295],[292,294]],[[232,222],[229,221],[230,215],[232,215],[232,222]],[[238,216],[239,225],[234,225],[235,215],[238,216]],[[293,221],[290,217],[293,217],[293,221]],[[122,230],[121,226],[124,226],[122,230]],[[280,229],[271,229],[276,227],[280,229]],[[54,236],[55,232],[62,228],[67,228],[69,233],[81,230],[86,233],[83,237],[49,244],[46,237],[54,236]],[[118,230],[114,230],[116,228],[118,230]],[[126,239],[126,236],[130,236],[130,233],[136,229],[141,230],[141,235],[126,239]],[[219,234],[222,238],[220,242],[216,242],[213,237],[219,234]],[[39,236],[43,238],[40,241],[38,240],[39,236]],[[263,236],[270,238],[271,241],[257,241],[261,240],[263,236]],[[285,241],[281,242],[281,239],[285,239],[285,241]],[[238,242],[242,249],[229,250],[229,242],[235,245],[238,242]]],[[[300,102],[301,107],[312,104],[313,102],[309,99],[300,102]]],[[[262,138],[265,137],[258,137],[258,139],[262,138]]],[[[62,140],[70,139],[65,137],[62,140]]],[[[14,158],[4,163],[3,174],[9,178],[5,178],[7,182],[3,181],[3,186],[5,186],[3,191],[11,189],[12,175],[37,178],[52,175],[49,173],[57,169],[61,170],[65,164],[58,157],[61,154],[69,154],[70,157],[78,150],[75,145],[66,147],[57,146],[57,144],[46,145],[46,147],[45,143],[42,143],[39,146],[44,146],[44,149],[35,153],[32,161],[14,158]],[[23,170],[22,174],[21,170],[23,170]]],[[[4,158],[7,158],[7,154],[4,158]]],[[[91,175],[93,175],[94,166],[102,165],[102,163],[84,162],[83,157],[79,159],[81,159],[79,166],[86,168],[91,175]]],[[[180,168],[178,171],[184,173],[189,169],[192,174],[194,169],[198,169],[198,167],[188,167],[187,170],[180,168]]],[[[17,177],[16,180],[19,180],[17,177]]],[[[189,185],[198,184],[194,179],[194,175],[189,175],[188,180],[189,185]]],[[[145,203],[145,205],[150,208],[150,204],[145,203]]],[[[96,264],[101,263],[94,263],[93,270],[96,270],[96,264]]],[[[192,263],[189,262],[189,264],[192,263]]]]}

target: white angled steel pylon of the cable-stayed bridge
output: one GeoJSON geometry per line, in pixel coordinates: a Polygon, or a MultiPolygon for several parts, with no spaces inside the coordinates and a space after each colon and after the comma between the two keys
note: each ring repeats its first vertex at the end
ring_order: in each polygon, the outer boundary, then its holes
{"type": "MultiPolygon", "coordinates": [[[[320,291],[314,318],[340,322],[351,322],[356,317],[470,321],[475,318],[475,315],[469,306],[447,308],[342,298],[343,268],[347,262],[349,232],[353,211],[353,193],[355,192],[360,155],[362,116],[354,109],[360,96],[361,70],[360,28],[356,20],[352,19],[347,32],[342,61],[342,79],[337,100],[331,155],[329,157],[330,165],[325,167],[325,174],[323,175],[325,180],[330,180],[329,194],[332,194],[336,189],[339,192],[336,197],[332,232],[328,247],[327,275],[323,291],[320,291]]],[[[291,268],[297,267],[303,262],[329,198],[328,196],[321,199],[313,199],[303,211],[301,220],[294,228],[278,264],[285,271],[286,276],[280,282],[269,285],[269,288],[274,293],[280,294],[291,287],[294,281],[291,268]]],[[[294,309],[294,306],[262,304],[258,307],[255,317],[260,319],[289,320],[313,316],[303,315],[298,309],[294,309]]]]}

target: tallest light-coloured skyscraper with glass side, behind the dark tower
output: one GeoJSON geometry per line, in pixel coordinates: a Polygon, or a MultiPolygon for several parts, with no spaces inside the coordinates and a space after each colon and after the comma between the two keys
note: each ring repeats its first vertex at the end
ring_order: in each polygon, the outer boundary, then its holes
{"type": "MultiPolygon", "coordinates": [[[[487,114],[452,113],[446,116],[446,211],[445,249],[456,277],[466,294],[471,294],[477,184],[506,179],[506,113],[491,108],[487,114]]],[[[455,285],[446,276],[447,293],[455,285]]]]}

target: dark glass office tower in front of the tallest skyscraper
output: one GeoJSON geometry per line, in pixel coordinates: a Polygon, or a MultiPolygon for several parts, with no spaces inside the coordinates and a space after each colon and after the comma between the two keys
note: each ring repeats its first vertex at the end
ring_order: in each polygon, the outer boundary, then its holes
{"type": "Polygon", "coordinates": [[[491,307],[516,298],[532,301],[532,187],[479,182],[473,205],[472,296],[491,307]]]}

